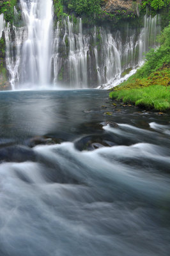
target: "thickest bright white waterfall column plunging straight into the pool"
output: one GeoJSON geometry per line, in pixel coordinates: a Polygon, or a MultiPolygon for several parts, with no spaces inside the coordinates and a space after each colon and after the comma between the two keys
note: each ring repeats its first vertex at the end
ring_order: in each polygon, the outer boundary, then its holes
{"type": "Polygon", "coordinates": [[[47,85],[50,83],[52,0],[20,0],[20,3],[27,26],[21,53],[21,83],[47,85]]]}

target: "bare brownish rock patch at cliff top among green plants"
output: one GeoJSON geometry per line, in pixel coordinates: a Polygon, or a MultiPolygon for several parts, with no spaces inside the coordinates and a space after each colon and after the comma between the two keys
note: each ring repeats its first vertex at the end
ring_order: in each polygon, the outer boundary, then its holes
{"type": "Polygon", "coordinates": [[[125,13],[131,14],[137,12],[137,6],[141,0],[105,0],[103,10],[107,13],[125,13]]]}

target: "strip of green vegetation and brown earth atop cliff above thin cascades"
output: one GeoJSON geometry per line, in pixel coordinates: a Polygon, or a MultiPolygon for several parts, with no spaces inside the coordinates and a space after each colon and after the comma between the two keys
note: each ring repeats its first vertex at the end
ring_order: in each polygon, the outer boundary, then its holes
{"type": "Polygon", "coordinates": [[[53,0],[54,14],[57,19],[65,15],[88,17],[90,20],[114,20],[131,19],[139,14],[139,11],[157,12],[167,8],[169,0],[53,0]]]}

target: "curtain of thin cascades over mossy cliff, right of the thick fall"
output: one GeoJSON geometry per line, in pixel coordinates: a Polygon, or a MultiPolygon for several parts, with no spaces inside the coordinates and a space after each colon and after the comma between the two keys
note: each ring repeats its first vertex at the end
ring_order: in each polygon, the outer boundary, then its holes
{"type": "Polygon", "coordinates": [[[54,83],[63,79],[71,88],[87,88],[118,81],[123,71],[142,65],[144,52],[157,46],[159,24],[159,15],[145,15],[140,33],[127,25],[123,39],[122,31],[111,33],[96,26],[87,29],[80,18],[73,22],[66,17],[55,33],[58,46],[54,47],[54,83]]]}

